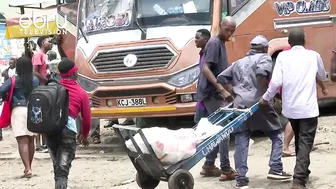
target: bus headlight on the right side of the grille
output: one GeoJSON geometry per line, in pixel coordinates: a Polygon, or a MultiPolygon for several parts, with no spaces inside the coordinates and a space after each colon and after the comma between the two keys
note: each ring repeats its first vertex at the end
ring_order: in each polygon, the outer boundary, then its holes
{"type": "Polygon", "coordinates": [[[197,65],[179,72],[168,79],[168,83],[175,87],[184,87],[195,82],[200,74],[200,68],[197,65]]]}

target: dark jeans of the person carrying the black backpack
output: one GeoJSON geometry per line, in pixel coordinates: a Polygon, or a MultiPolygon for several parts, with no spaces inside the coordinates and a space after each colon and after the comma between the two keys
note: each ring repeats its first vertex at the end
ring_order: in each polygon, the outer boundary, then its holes
{"type": "Polygon", "coordinates": [[[54,167],[55,189],[66,189],[76,154],[76,133],[65,128],[59,134],[48,135],[46,141],[54,167]]]}

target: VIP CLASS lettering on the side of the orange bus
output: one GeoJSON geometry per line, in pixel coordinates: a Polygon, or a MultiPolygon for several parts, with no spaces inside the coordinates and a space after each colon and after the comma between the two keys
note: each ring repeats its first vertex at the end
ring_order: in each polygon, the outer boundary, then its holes
{"type": "Polygon", "coordinates": [[[328,13],[331,10],[330,0],[299,0],[275,2],[275,9],[279,16],[328,13]]]}

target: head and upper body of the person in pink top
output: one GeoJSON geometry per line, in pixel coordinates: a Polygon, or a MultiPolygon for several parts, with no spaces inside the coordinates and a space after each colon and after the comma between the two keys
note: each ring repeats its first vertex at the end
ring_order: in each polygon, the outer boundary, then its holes
{"type": "Polygon", "coordinates": [[[48,80],[47,52],[52,49],[52,43],[48,36],[42,36],[37,39],[37,45],[40,47],[40,51],[33,55],[33,72],[39,78],[40,84],[45,84],[48,80]]]}

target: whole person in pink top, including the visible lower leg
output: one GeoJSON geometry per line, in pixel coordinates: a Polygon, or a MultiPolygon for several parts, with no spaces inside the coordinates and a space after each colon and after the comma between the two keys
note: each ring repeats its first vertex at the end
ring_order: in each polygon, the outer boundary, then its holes
{"type": "MultiPolygon", "coordinates": [[[[52,49],[52,43],[48,36],[41,36],[37,39],[37,45],[40,47],[40,51],[35,53],[32,58],[33,63],[33,73],[39,79],[40,85],[44,85],[48,80],[48,55],[47,52],[52,49]]],[[[36,145],[38,146],[37,152],[48,152],[47,146],[45,145],[45,137],[43,135],[38,135],[36,137],[36,145]],[[42,142],[40,141],[42,138],[42,142]]]]}

